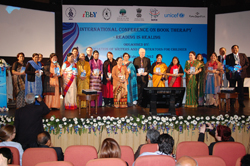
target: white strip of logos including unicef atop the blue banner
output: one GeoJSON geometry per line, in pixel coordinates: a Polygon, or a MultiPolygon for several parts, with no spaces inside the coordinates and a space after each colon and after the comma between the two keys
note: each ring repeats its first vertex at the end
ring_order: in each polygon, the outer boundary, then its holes
{"type": "Polygon", "coordinates": [[[207,8],[63,5],[63,22],[207,24],[207,8]]]}

